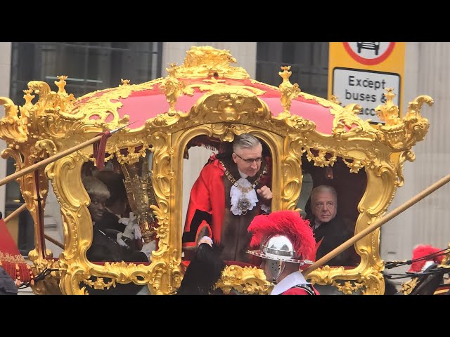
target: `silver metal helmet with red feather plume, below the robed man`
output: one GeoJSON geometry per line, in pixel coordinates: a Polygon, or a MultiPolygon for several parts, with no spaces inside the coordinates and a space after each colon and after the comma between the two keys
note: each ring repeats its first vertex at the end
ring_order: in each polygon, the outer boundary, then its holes
{"type": "Polygon", "coordinates": [[[248,253],[301,265],[311,265],[316,256],[316,241],[308,220],[297,211],[276,211],[255,216],[248,227],[253,233],[250,246],[259,249],[248,253]]]}

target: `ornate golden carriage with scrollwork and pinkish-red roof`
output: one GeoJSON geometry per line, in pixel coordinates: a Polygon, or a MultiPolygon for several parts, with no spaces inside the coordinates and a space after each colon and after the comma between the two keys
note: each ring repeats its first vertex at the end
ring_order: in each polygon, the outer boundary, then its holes
{"type": "MultiPolygon", "coordinates": [[[[199,139],[226,144],[252,132],[262,140],[272,159],[273,211],[297,209],[303,177],[309,173],[315,185],[332,182],[338,194],[346,196],[342,212],[353,221],[355,233],[383,216],[403,184],[404,161],[414,160],[411,147],[428,131],[420,109],[423,103],[432,105],[432,98],[415,98],[401,118],[392,103],[394,93],[387,90],[387,102],[379,107],[385,124],[371,124],[359,118],[356,104],[342,107],[337,98],[303,93],[290,83],[289,67],[282,67],[281,84],[275,87],[250,79],[234,62],[229,51],[192,47],[182,65],[167,68],[167,77],[143,84],[122,80],[117,88],[75,98],[65,91],[65,77],[59,77],[57,92],[45,82],[30,81],[20,107],[0,98],[6,110],[0,137],[8,144],[2,156],[13,157],[18,171],[123,126],[108,139],[105,161],[132,166],[151,158],[154,199],[147,202],[156,221],[143,228],[155,231],[158,239],[151,263],[96,263],[86,258],[93,230],[81,177],[86,163],[96,163],[91,146],[18,178],[34,219],[35,248],[29,257],[35,274],[53,270],[32,287],[34,293],[82,294],[129,282],[147,285],[152,294],[174,293],[184,272],[185,158],[191,147],[202,143],[195,142],[199,139]],[[42,211],[49,182],[63,217],[64,249],[58,257],[46,249],[44,240],[42,211]]],[[[325,265],[308,277],[346,294],[381,294],[385,285],[379,246],[377,229],[354,245],[358,265],[325,265]]],[[[264,294],[271,284],[259,268],[236,263],[227,265],[217,287],[225,293],[235,289],[264,294]]]]}

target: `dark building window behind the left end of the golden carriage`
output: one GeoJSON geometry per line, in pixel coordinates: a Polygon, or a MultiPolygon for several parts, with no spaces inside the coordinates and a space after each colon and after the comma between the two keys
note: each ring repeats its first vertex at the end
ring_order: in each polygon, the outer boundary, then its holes
{"type": "MultiPolygon", "coordinates": [[[[23,90],[29,81],[45,81],[57,91],[57,76],[67,75],[65,90],[79,98],[117,87],[121,79],[129,79],[131,84],[157,79],[161,64],[162,42],[13,42],[9,97],[16,105],[23,105],[23,90]]],[[[8,175],[15,171],[13,164],[13,159],[8,159],[8,175]]],[[[21,204],[18,183],[8,183],[6,216],[21,204]]],[[[27,255],[34,247],[34,226],[29,213],[23,213],[15,237],[20,251],[27,255]]]]}

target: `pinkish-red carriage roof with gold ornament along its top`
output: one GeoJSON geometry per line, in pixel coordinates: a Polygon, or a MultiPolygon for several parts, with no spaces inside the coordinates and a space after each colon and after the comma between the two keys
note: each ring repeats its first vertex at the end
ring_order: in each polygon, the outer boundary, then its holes
{"type": "MultiPolygon", "coordinates": [[[[172,68],[167,69],[169,77],[174,81],[182,82],[182,86],[190,88],[188,93],[182,93],[176,97],[175,110],[189,112],[203,95],[208,95],[211,89],[205,87],[212,84],[215,88],[242,87],[256,93],[257,97],[266,103],[274,117],[285,110],[281,104],[282,95],[279,88],[250,79],[243,68],[231,67],[230,62],[236,62],[236,60],[232,58],[229,51],[218,51],[210,47],[192,47],[183,65],[175,67],[172,64],[172,68]]],[[[131,129],[135,129],[143,126],[148,119],[169,111],[167,91],[164,89],[165,79],[108,88],[79,98],[75,102],[75,110],[84,110],[84,107],[89,105],[98,106],[98,100],[107,100],[107,105],[116,106],[120,119],[128,115],[129,122],[135,122],[130,126],[131,129]]],[[[314,121],[317,131],[331,134],[334,119],[333,114],[330,113],[331,108],[321,105],[318,100],[321,98],[300,93],[291,101],[290,114],[314,121]]],[[[110,120],[107,119],[106,122],[108,121],[110,120]]]]}

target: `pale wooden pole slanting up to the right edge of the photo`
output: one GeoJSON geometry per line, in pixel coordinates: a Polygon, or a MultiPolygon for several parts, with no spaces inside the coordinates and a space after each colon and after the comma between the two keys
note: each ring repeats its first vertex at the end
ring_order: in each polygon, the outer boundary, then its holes
{"type": "Polygon", "coordinates": [[[326,256],[323,256],[322,258],[319,258],[319,260],[316,261],[313,265],[310,265],[306,270],[304,270],[302,273],[304,276],[307,276],[310,272],[315,270],[316,268],[320,267],[321,265],[324,265],[329,260],[337,256],[338,254],[342,253],[342,251],[345,251],[345,249],[349,248],[349,246],[352,246],[355,242],[357,242],[359,239],[365,237],[367,234],[370,234],[374,230],[376,230],[378,227],[381,227],[387,221],[392,220],[392,218],[395,218],[400,213],[405,211],[406,209],[409,209],[409,207],[413,206],[414,204],[418,203],[418,201],[422,200],[423,198],[427,197],[428,194],[431,194],[432,192],[435,192],[438,188],[444,186],[446,183],[449,183],[450,181],[450,174],[445,176],[444,178],[438,180],[436,183],[431,185],[430,187],[426,188],[419,194],[417,194],[415,197],[412,197],[408,201],[406,201],[404,204],[401,204],[397,207],[397,209],[394,209],[394,211],[390,212],[383,218],[381,218],[378,221],[375,221],[372,225],[368,226],[365,230],[361,230],[358,234],[356,234],[354,237],[351,237],[346,242],[341,244],[340,246],[333,249],[333,251],[330,251],[326,256]]]}

